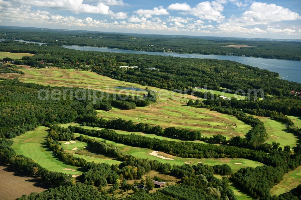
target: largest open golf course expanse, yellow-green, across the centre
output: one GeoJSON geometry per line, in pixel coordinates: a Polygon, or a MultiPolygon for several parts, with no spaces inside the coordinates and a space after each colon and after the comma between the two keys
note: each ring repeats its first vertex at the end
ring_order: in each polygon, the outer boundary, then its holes
{"type": "MultiPolygon", "coordinates": [[[[114,80],[91,71],[59,68],[33,69],[23,65],[14,67],[14,69],[21,70],[25,73],[25,75],[18,77],[21,82],[25,83],[38,83],[50,86],[89,87],[105,92],[132,95],[142,95],[145,93],[144,91],[114,89],[116,86],[145,89],[145,86],[114,80]]],[[[134,110],[127,111],[113,108],[108,112],[98,111],[98,116],[107,119],[120,117],[126,120],[132,120],[134,123],[145,122],[152,125],[160,125],[163,128],[175,126],[178,128],[200,130],[203,136],[211,137],[213,135],[222,134],[227,139],[234,136],[245,136],[251,129],[251,126],[241,122],[236,117],[220,114],[208,109],[185,106],[187,100],[197,99],[191,95],[182,95],[155,87],[148,87],[148,89],[157,91],[158,96],[157,102],[152,103],[149,107],[137,107],[134,110]]]]}

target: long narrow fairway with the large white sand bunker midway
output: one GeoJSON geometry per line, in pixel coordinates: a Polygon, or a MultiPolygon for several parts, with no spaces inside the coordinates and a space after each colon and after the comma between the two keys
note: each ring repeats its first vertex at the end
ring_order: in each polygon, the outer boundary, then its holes
{"type": "MultiPolygon", "coordinates": [[[[82,134],[74,133],[74,135],[79,136],[82,134]]],[[[85,135],[84,135],[85,136],[85,135]]],[[[94,138],[96,141],[104,141],[102,138],[96,138],[96,137],[91,137],[88,136],[89,138],[94,138]]],[[[202,162],[205,165],[222,165],[222,164],[228,164],[234,172],[236,172],[238,169],[242,167],[257,167],[260,165],[263,165],[260,162],[256,162],[253,160],[248,160],[248,159],[240,159],[240,158],[235,158],[235,159],[230,159],[230,158],[222,158],[222,159],[196,159],[196,158],[182,158],[182,157],[176,157],[169,155],[167,153],[163,152],[157,152],[158,156],[163,156],[163,158],[159,158],[157,156],[151,155],[150,153],[153,152],[151,149],[145,149],[145,148],[140,148],[140,147],[132,147],[120,143],[116,143],[113,141],[106,140],[107,144],[113,144],[117,148],[119,148],[123,153],[125,154],[130,154],[132,156],[138,157],[138,158],[148,158],[148,159],[156,159],[159,160],[162,163],[170,163],[171,165],[184,165],[186,164],[197,164],[198,162],[202,162]],[[235,164],[235,163],[241,163],[241,164],[235,164]]]]}

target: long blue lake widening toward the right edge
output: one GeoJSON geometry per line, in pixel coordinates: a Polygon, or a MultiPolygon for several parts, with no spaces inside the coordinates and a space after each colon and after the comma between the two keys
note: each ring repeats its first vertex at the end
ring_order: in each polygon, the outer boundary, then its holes
{"type": "Polygon", "coordinates": [[[278,60],[267,58],[243,57],[243,56],[225,56],[225,55],[203,55],[203,54],[184,54],[184,53],[163,53],[163,52],[149,52],[149,51],[133,51],[124,49],[111,49],[104,47],[83,47],[73,45],[63,45],[63,47],[82,51],[100,51],[110,53],[134,53],[147,54],[155,56],[173,56],[178,58],[208,58],[219,60],[231,60],[240,62],[245,65],[251,65],[260,69],[267,69],[269,71],[278,72],[281,79],[301,83],[301,61],[293,60],[278,60]]]}

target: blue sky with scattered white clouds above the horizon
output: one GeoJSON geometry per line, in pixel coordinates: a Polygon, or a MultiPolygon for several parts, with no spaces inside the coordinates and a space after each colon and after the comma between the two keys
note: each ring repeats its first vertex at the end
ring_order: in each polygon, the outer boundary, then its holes
{"type": "Polygon", "coordinates": [[[301,0],[0,0],[0,25],[301,39],[301,0]]]}

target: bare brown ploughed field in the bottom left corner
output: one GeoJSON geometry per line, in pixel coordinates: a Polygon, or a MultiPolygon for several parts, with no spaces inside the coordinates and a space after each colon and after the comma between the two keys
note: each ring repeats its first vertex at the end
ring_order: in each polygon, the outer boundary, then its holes
{"type": "Polygon", "coordinates": [[[0,177],[0,199],[3,200],[16,199],[23,194],[29,195],[31,192],[43,192],[47,189],[47,185],[39,179],[28,177],[7,166],[0,166],[0,177]]]}

